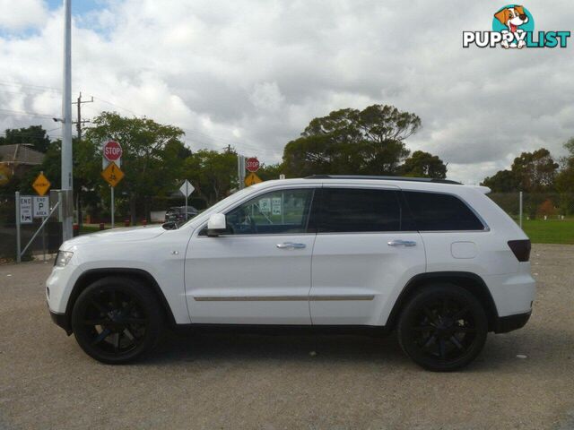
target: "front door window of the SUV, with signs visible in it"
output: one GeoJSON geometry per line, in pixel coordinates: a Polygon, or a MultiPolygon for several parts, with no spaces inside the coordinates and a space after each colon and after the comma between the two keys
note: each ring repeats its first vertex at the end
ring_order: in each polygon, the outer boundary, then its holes
{"type": "Polygon", "coordinates": [[[304,188],[260,194],[226,214],[226,234],[306,233],[313,193],[313,188],[304,188]]]}

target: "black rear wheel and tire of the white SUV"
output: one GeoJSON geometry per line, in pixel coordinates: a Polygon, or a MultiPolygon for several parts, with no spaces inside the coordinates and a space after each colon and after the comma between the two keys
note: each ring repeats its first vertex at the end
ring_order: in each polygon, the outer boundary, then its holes
{"type": "Polygon", "coordinates": [[[397,334],[404,353],[417,365],[450,372],[468,365],[483,350],[488,319],[483,305],[464,288],[431,285],[405,305],[397,334]]]}

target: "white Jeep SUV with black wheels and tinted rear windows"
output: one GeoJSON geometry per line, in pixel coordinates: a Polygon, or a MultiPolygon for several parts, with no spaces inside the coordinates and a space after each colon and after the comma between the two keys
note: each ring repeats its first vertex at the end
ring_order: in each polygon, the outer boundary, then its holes
{"type": "Polygon", "coordinates": [[[289,326],[396,330],[414,362],[454,370],[489,331],[526,324],[535,297],[530,241],[488,192],[382,176],[268,181],[179,228],[65,242],[50,314],[110,364],[148,351],[166,324],[289,326]]]}

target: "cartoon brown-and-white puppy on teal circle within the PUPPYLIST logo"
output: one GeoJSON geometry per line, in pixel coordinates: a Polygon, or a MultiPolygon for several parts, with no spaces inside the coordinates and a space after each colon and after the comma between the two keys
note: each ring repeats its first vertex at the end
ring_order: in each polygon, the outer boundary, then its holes
{"type": "Polygon", "coordinates": [[[509,4],[500,9],[499,12],[494,13],[492,30],[502,33],[501,47],[505,49],[509,49],[509,47],[522,49],[526,47],[525,30],[531,31],[534,29],[533,21],[532,15],[528,13],[524,6],[509,4]],[[528,23],[531,25],[528,25],[528,28],[526,28],[526,24],[528,23]],[[500,25],[503,26],[503,29],[500,29],[500,25]]]}

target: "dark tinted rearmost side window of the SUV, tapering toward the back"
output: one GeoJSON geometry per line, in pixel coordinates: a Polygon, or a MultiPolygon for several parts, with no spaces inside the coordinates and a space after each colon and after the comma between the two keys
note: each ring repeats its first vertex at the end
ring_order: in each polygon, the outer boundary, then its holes
{"type": "Polygon", "coordinates": [[[421,231],[484,229],[481,220],[455,195],[404,191],[404,197],[421,231]]]}

